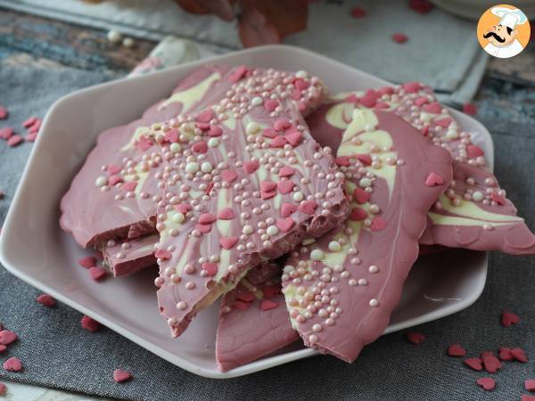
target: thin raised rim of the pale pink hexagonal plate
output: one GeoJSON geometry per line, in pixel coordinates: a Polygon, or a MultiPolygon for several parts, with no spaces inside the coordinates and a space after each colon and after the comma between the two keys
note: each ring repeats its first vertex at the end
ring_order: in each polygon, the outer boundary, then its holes
{"type": "MultiPolygon", "coordinates": [[[[251,49],[240,50],[240,51],[237,51],[237,52],[219,54],[219,55],[215,55],[215,56],[212,56],[212,57],[209,57],[209,58],[206,58],[206,59],[202,59],[202,60],[199,60],[199,61],[187,62],[187,63],[180,64],[180,65],[177,65],[177,66],[173,66],[173,67],[169,67],[169,68],[166,68],[166,69],[158,70],[158,71],[155,71],[155,72],[152,72],[150,74],[146,74],[146,75],[140,76],[140,77],[118,78],[118,79],[114,79],[114,80],[111,80],[111,81],[108,81],[108,82],[97,84],[95,86],[88,86],[86,88],[78,89],[78,90],[76,90],[74,92],[71,92],[70,94],[66,94],[66,95],[62,96],[60,99],[58,99],[55,102],[53,102],[52,106],[47,110],[47,112],[45,114],[45,119],[43,119],[43,124],[42,124],[42,128],[41,128],[42,129],[42,133],[47,131],[48,125],[49,125],[48,121],[51,119],[51,116],[53,116],[57,112],[56,110],[57,109],[61,109],[63,103],[70,102],[72,99],[74,99],[74,98],[76,98],[78,96],[83,96],[83,95],[86,95],[86,94],[91,94],[93,92],[102,91],[102,90],[110,90],[110,89],[113,88],[113,86],[124,85],[126,82],[130,82],[130,81],[134,81],[134,80],[136,80],[136,81],[143,81],[143,80],[150,81],[155,76],[168,74],[169,71],[186,70],[186,69],[190,69],[190,68],[193,69],[195,67],[202,66],[202,65],[204,65],[206,63],[217,62],[217,61],[220,61],[221,59],[228,59],[229,56],[232,57],[232,56],[239,56],[239,55],[243,55],[243,54],[247,54],[247,53],[254,54],[254,53],[281,52],[281,51],[282,52],[292,52],[292,53],[307,54],[310,57],[315,57],[317,59],[321,59],[321,61],[329,63],[331,65],[334,65],[337,68],[342,68],[344,70],[350,70],[350,71],[357,71],[359,74],[361,74],[361,75],[363,75],[365,77],[373,78],[374,81],[382,81],[383,85],[392,85],[391,82],[386,81],[383,78],[375,77],[375,76],[373,76],[371,74],[368,74],[365,71],[358,70],[358,69],[356,69],[354,67],[351,67],[348,64],[342,63],[340,61],[335,61],[335,60],[333,60],[333,59],[331,59],[329,57],[326,57],[326,56],[324,56],[322,54],[315,53],[315,52],[312,52],[312,51],[309,51],[309,50],[306,50],[306,49],[302,49],[300,47],[295,47],[295,46],[292,46],[292,45],[264,45],[264,46],[254,47],[254,48],[251,48],[251,49]]],[[[227,60],[226,63],[232,64],[232,61],[228,61],[227,60]]],[[[489,143],[490,143],[490,152],[488,152],[489,164],[490,164],[490,167],[492,168],[493,162],[494,162],[494,143],[492,142],[492,138],[491,138],[490,133],[487,130],[487,128],[484,127],[478,120],[473,119],[471,116],[465,115],[464,113],[461,113],[458,110],[451,109],[448,106],[447,106],[447,108],[449,109],[450,112],[452,112],[454,117],[456,117],[457,119],[461,118],[461,119],[470,120],[470,122],[473,123],[477,127],[478,130],[481,130],[481,134],[482,135],[485,135],[485,136],[488,137],[489,143]]],[[[14,228],[12,228],[12,226],[14,226],[16,224],[16,222],[14,220],[15,220],[15,215],[16,215],[17,209],[20,209],[19,203],[21,202],[20,201],[21,193],[24,191],[24,188],[26,186],[28,186],[28,184],[29,184],[28,183],[28,181],[30,179],[29,173],[30,173],[31,170],[34,169],[33,168],[34,164],[37,163],[37,161],[36,161],[38,159],[37,154],[38,154],[38,151],[40,150],[40,148],[43,146],[42,143],[44,143],[44,141],[45,141],[45,136],[46,135],[39,135],[37,137],[36,143],[34,143],[34,147],[32,148],[31,153],[29,155],[29,160],[26,163],[26,166],[25,166],[24,171],[23,171],[22,176],[21,176],[21,180],[20,180],[20,182],[19,182],[19,184],[17,186],[17,190],[15,192],[15,195],[13,196],[12,203],[10,205],[10,208],[8,209],[7,215],[6,215],[5,220],[4,220],[4,227],[2,229],[2,234],[0,235],[0,262],[2,262],[2,264],[5,267],[5,269],[8,272],[10,272],[11,274],[13,274],[16,277],[20,278],[22,281],[28,282],[31,286],[37,288],[38,290],[45,291],[46,293],[52,295],[55,299],[60,300],[62,303],[74,308],[75,310],[78,310],[79,312],[83,313],[84,315],[88,315],[88,316],[90,316],[92,318],[95,318],[95,320],[99,321],[100,323],[103,323],[103,325],[105,325],[106,327],[108,327],[112,331],[116,331],[120,335],[126,337],[128,340],[131,340],[131,341],[135,342],[137,345],[139,345],[139,346],[149,350],[153,354],[155,354],[157,356],[160,356],[161,358],[167,360],[169,363],[175,364],[178,367],[180,367],[182,369],[185,369],[188,372],[192,372],[194,374],[197,374],[197,375],[200,375],[200,376],[203,376],[203,377],[207,377],[207,378],[210,378],[210,379],[231,379],[231,378],[243,376],[243,375],[246,375],[246,374],[250,374],[250,373],[253,373],[253,372],[259,372],[259,371],[262,371],[262,370],[265,370],[265,369],[269,369],[269,368],[274,367],[276,365],[286,364],[286,363],[289,363],[289,362],[292,362],[292,361],[295,361],[295,360],[298,360],[298,359],[302,359],[302,358],[305,358],[305,357],[320,355],[317,352],[317,350],[315,350],[315,349],[304,348],[304,349],[291,351],[289,353],[285,353],[285,354],[281,354],[281,355],[277,355],[277,356],[270,356],[267,359],[259,359],[257,361],[253,361],[253,362],[251,362],[249,364],[245,364],[243,366],[239,366],[239,367],[237,367],[237,368],[235,368],[235,369],[233,369],[233,370],[231,370],[229,372],[218,372],[216,370],[212,371],[210,369],[206,369],[206,368],[203,368],[203,367],[198,366],[196,364],[193,364],[189,360],[185,359],[182,356],[178,356],[177,354],[172,354],[172,353],[170,353],[169,351],[166,351],[163,348],[155,346],[154,344],[152,344],[152,342],[150,342],[148,340],[144,340],[144,338],[139,337],[138,335],[128,331],[127,329],[121,327],[117,323],[113,323],[111,320],[99,315],[98,312],[95,312],[95,311],[85,307],[83,304],[78,303],[78,301],[70,299],[68,296],[63,295],[59,291],[53,290],[53,288],[48,287],[48,285],[46,285],[45,283],[39,282],[38,280],[34,279],[30,274],[26,274],[25,272],[21,271],[18,267],[14,266],[14,264],[12,264],[11,261],[10,261],[9,250],[7,249],[7,242],[8,242],[8,238],[9,238],[10,234],[12,233],[12,231],[14,231],[14,228]]],[[[455,313],[465,309],[466,307],[470,307],[471,305],[473,305],[473,303],[477,299],[479,299],[479,297],[481,296],[481,292],[484,289],[485,282],[486,282],[486,277],[487,277],[487,274],[488,274],[488,268],[489,268],[488,260],[489,260],[489,258],[488,258],[488,253],[487,252],[485,252],[485,253],[486,253],[486,255],[484,257],[484,268],[482,269],[482,272],[481,272],[481,279],[478,282],[478,287],[476,289],[474,289],[473,292],[471,292],[471,296],[469,298],[465,298],[465,299],[463,299],[462,301],[460,301],[460,302],[458,302],[456,304],[450,305],[449,307],[443,307],[442,309],[440,309],[440,312],[434,311],[434,312],[427,313],[425,315],[421,315],[421,316],[413,318],[413,319],[409,319],[409,320],[407,320],[405,322],[400,322],[400,323],[389,325],[389,327],[386,329],[386,331],[383,334],[388,334],[388,333],[391,333],[393,331],[403,330],[403,329],[406,329],[407,327],[412,327],[412,326],[415,326],[417,324],[428,323],[428,322],[431,322],[433,320],[437,320],[437,319],[440,319],[442,317],[455,314],[455,313]]]]}

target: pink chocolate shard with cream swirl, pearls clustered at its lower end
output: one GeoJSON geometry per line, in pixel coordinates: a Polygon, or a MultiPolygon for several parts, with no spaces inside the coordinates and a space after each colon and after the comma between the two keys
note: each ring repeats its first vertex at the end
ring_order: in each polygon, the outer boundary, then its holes
{"type": "Polygon", "coordinates": [[[451,157],[381,110],[356,110],[334,150],[349,160],[341,169],[350,218],[292,252],[282,281],[305,345],[352,362],[388,326],[418,257],[427,211],[451,179],[451,157]],[[370,166],[361,154],[372,157],[370,166]],[[427,183],[430,175],[443,183],[427,183]],[[356,196],[361,191],[369,200],[356,196]]]}

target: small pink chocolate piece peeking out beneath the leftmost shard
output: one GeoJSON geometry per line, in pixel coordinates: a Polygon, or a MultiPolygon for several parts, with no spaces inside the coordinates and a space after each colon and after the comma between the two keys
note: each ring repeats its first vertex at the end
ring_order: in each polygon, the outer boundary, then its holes
{"type": "Polygon", "coordinates": [[[102,247],[104,264],[115,277],[136,273],[145,267],[155,266],[154,245],[158,235],[148,234],[134,240],[109,240],[102,247]]]}

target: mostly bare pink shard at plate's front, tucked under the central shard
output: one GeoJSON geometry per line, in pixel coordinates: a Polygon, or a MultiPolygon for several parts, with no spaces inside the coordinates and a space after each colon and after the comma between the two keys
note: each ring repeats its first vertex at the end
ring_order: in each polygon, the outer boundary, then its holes
{"type": "Polygon", "coordinates": [[[281,266],[252,268],[221,301],[216,359],[227,372],[299,339],[292,329],[281,292],[281,266]]]}

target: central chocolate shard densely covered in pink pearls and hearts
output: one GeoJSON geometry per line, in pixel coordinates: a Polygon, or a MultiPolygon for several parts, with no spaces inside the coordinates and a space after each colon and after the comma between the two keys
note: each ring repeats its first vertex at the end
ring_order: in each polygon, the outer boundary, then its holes
{"type": "MultiPolygon", "coordinates": [[[[175,337],[251,267],[284,255],[305,236],[322,235],[348,213],[343,174],[330,150],[312,139],[300,113],[307,110],[300,99],[305,96],[308,104],[321,101],[323,87],[316,78],[303,77],[308,88],[288,92],[277,82],[291,83],[295,76],[250,71],[228,97],[208,109],[210,126],[220,127],[221,136],[210,138],[209,127],[199,126],[206,119],[207,111],[202,111],[177,127],[184,137],[180,151],[161,142],[167,161],[167,174],[161,177],[166,193],[156,228],[161,235],[158,249],[170,257],[159,258],[155,283],[160,287],[161,313],[175,337]],[[267,110],[267,99],[278,102],[275,110],[267,110]],[[276,136],[264,137],[264,129],[274,129],[276,136]],[[295,132],[300,133],[299,143],[274,146],[277,138],[295,132]],[[207,147],[196,151],[199,143],[207,147]],[[258,168],[246,169],[247,162],[258,163],[258,168]],[[284,166],[295,168],[295,173],[279,176],[284,166]],[[286,180],[294,184],[292,192],[278,188],[286,180]],[[283,217],[281,207],[288,202],[298,207],[314,202],[317,207],[283,217]],[[192,208],[186,211],[185,205],[192,208]],[[214,220],[228,208],[234,211],[232,219],[214,220]]],[[[158,131],[153,136],[158,137],[158,131]]]]}

